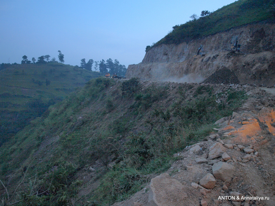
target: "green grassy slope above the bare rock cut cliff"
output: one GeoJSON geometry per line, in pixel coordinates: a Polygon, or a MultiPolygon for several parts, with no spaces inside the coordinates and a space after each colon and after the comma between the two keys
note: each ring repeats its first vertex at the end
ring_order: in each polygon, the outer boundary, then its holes
{"type": "MultiPolygon", "coordinates": [[[[239,0],[197,20],[181,24],[155,45],[179,44],[247,23],[274,20],[275,0],[239,0]]],[[[150,47],[147,47],[150,49],[150,47]]]]}

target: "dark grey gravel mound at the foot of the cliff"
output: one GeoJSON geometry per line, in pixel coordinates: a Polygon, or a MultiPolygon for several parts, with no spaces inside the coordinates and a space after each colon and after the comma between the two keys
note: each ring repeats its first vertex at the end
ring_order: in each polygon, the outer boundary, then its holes
{"type": "Polygon", "coordinates": [[[222,68],[208,77],[203,83],[210,84],[239,84],[239,80],[234,72],[227,68],[222,68]]]}

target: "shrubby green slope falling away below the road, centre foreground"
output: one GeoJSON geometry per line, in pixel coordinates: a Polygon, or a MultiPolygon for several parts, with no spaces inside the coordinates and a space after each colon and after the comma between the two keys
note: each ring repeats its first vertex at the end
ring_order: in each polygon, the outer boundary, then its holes
{"type": "Polygon", "coordinates": [[[10,194],[23,179],[10,203],[92,206],[129,197],[245,99],[229,90],[227,104],[217,104],[214,93],[209,85],[90,80],[2,146],[0,179],[10,194]]]}

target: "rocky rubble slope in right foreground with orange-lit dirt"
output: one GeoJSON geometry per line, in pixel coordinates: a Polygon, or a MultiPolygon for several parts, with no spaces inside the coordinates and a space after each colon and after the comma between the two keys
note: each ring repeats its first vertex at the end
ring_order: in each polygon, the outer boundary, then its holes
{"type": "MultiPolygon", "coordinates": [[[[241,86],[220,91],[229,87],[241,86]]],[[[217,120],[203,141],[174,154],[178,161],[167,172],[113,206],[275,205],[274,96],[259,88],[249,93],[265,97],[217,120]]]]}

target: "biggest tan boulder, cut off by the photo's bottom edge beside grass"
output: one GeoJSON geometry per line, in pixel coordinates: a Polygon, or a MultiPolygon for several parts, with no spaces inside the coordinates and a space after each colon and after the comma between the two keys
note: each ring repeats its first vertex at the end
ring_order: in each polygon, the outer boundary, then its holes
{"type": "Polygon", "coordinates": [[[186,197],[184,186],[167,173],[151,179],[148,197],[150,206],[181,206],[186,197]]]}

